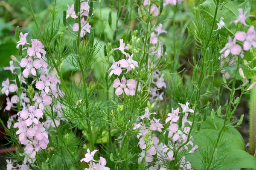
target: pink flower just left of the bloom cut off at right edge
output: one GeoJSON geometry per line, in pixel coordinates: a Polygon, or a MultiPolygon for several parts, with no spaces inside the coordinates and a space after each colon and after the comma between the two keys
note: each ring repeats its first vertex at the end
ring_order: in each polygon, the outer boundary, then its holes
{"type": "Polygon", "coordinates": [[[239,55],[242,51],[242,48],[240,45],[236,44],[236,38],[232,41],[232,38],[228,36],[229,42],[225,45],[225,47],[220,51],[220,53],[223,53],[224,51],[224,57],[227,57],[230,52],[233,55],[239,55]]]}

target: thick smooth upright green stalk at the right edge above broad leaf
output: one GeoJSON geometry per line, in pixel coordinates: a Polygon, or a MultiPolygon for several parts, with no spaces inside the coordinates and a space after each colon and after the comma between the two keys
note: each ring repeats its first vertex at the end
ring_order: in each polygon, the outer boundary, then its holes
{"type": "MultiPolygon", "coordinates": [[[[251,82],[256,82],[256,78],[251,79],[251,82]]],[[[255,136],[256,136],[256,88],[250,91],[250,145],[249,153],[255,153],[255,136]]]]}

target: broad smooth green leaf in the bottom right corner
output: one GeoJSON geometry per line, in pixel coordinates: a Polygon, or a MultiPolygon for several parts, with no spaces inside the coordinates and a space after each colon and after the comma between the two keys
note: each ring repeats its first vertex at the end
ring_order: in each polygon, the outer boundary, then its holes
{"type": "MultiPolygon", "coordinates": [[[[215,125],[222,127],[223,119],[215,117],[215,125]]],[[[207,150],[207,142],[209,137],[212,139],[218,138],[218,131],[210,117],[202,124],[201,130],[194,136],[193,144],[197,144],[204,153],[207,150]],[[208,137],[207,137],[208,136],[208,137]]],[[[222,142],[225,142],[226,149],[224,152],[217,152],[217,156],[226,156],[221,163],[219,170],[233,170],[236,168],[256,168],[256,158],[246,151],[243,137],[234,127],[228,128],[222,136],[222,142]]],[[[209,148],[208,148],[209,150],[209,148]]],[[[199,150],[195,153],[186,156],[186,159],[191,162],[191,165],[196,170],[204,169],[202,167],[202,155],[199,150]]]]}

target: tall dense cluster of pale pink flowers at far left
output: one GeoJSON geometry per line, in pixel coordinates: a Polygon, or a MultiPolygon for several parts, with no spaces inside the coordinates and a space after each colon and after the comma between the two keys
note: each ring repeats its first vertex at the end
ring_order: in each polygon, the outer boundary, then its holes
{"type": "Polygon", "coordinates": [[[5,70],[10,70],[12,74],[15,74],[18,79],[15,79],[10,83],[9,79],[3,81],[2,83],[2,94],[9,95],[9,92],[17,92],[16,95],[7,97],[7,105],[5,110],[10,111],[11,109],[17,110],[17,114],[12,115],[8,122],[7,127],[10,129],[12,126],[18,128],[16,134],[20,144],[25,145],[25,153],[23,164],[17,164],[15,161],[9,161],[7,168],[14,168],[13,163],[16,163],[16,167],[23,170],[29,170],[29,165],[33,166],[35,161],[35,156],[40,150],[47,148],[49,144],[49,130],[51,127],[56,127],[60,124],[61,120],[66,120],[61,118],[62,108],[61,104],[55,99],[63,97],[64,94],[59,90],[58,84],[60,81],[55,76],[55,71],[49,68],[44,50],[44,45],[37,39],[32,39],[31,43],[26,40],[28,33],[20,33],[20,41],[17,42],[17,48],[20,45],[23,46],[23,51],[26,50],[26,57],[21,59],[20,62],[12,56],[12,61],[10,66],[6,67],[5,70]],[[31,46],[30,46],[31,45],[31,46]],[[20,67],[14,66],[14,62],[20,65],[20,67]],[[22,74],[17,74],[21,72],[22,74]],[[28,77],[32,77],[33,81],[29,84],[28,77]],[[19,82],[16,82],[19,81],[19,82]],[[32,88],[35,85],[35,88],[32,88]],[[19,87],[18,87],[19,86],[19,87]],[[35,91],[36,90],[36,91],[35,91]],[[22,91],[22,93],[18,93],[22,91]],[[27,96],[29,95],[29,97],[27,96]],[[49,107],[51,106],[51,107],[49,107]],[[17,109],[18,108],[18,109],[17,109]],[[57,114],[56,121],[52,120],[49,116],[44,116],[44,112],[47,110],[52,111],[53,114],[57,114]],[[42,122],[43,118],[46,118],[46,122],[42,122]],[[17,118],[17,120],[15,120],[17,118]]]}

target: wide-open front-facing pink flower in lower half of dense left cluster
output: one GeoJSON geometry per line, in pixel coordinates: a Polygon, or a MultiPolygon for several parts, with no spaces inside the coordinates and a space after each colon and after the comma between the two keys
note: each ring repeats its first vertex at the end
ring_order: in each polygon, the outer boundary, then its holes
{"type": "Polygon", "coordinates": [[[20,117],[26,119],[26,126],[32,125],[33,122],[37,125],[37,118],[43,118],[43,112],[40,109],[35,109],[35,106],[29,106],[29,112],[26,110],[21,111],[20,117]]]}

